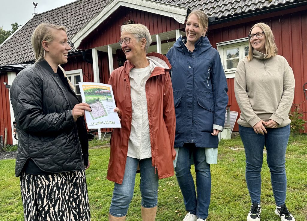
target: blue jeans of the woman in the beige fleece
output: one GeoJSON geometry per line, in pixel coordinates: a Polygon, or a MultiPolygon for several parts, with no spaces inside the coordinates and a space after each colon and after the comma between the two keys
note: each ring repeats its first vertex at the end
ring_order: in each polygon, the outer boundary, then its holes
{"type": "Polygon", "coordinates": [[[253,128],[239,125],[239,133],[245,149],[246,183],[252,203],[260,203],[261,168],[263,149],[266,146],[266,162],[270,168],[271,183],[276,205],[286,201],[286,148],[290,136],[290,125],[270,129],[267,134],[256,134],[253,128]]]}

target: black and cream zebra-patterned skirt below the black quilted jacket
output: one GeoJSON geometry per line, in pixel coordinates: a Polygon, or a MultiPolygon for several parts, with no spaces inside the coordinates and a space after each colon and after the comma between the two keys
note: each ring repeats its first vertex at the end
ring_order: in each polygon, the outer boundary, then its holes
{"type": "Polygon", "coordinates": [[[90,221],[85,171],[20,176],[25,221],[90,221]]]}

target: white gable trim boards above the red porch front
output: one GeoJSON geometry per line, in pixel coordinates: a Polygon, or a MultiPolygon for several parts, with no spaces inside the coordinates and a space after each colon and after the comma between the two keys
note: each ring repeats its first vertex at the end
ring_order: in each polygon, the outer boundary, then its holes
{"type": "Polygon", "coordinates": [[[182,6],[174,6],[171,4],[156,2],[153,0],[114,0],[110,2],[104,9],[94,17],[84,28],[82,28],[74,37],[72,42],[75,48],[78,48],[81,41],[95,30],[104,20],[106,20],[120,6],[138,9],[142,11],[150,11],[167,17],[173,17],[176,21],[184,24],[188,8],[182,6]]]}

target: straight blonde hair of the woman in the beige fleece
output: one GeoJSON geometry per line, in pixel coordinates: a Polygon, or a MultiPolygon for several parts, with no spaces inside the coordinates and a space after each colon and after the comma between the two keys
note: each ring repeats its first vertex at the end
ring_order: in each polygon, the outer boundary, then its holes
{"type": "MultiPolygon", "coordinates": [[[[253,27],[251,27],[249,35],[251,34],[251,31],[255,27],[261,28],[262,31],[264,32],[265,37],[266,37],[266,40],[265,40],[266,58],[274,57],[275,55],[277,55],[278,54],[278,48],[275,44],[274,35],[273,35],[272,29],[270,28],[270,26],[265,24],[265,23],[262,23],[262,22],[257,23],[253,27]]],[[[248,43],[249,43],[249,49],[248,49],[247,60],[251,61],[253,59],[254,48],[251,45],[250,39],[248,39],[248,43]]]]}

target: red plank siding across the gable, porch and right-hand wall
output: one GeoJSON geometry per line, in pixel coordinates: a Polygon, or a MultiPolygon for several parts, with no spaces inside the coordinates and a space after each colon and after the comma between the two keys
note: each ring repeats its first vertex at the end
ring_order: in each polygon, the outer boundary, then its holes
{"type": "MultiPolygon", "coordinates": [[[[307,82],[307,75],[304,75],[304,73],[307,73],[307,44],[306,41],[303,41],[304,36],[307,36],[307,30],[304,29],[304,27],[307,26],[307,10],[288,14],[284,11],[283,13],[284,14],[275,12],[272,14],[257,16],[255,17],[256,20],[251,21],[251,19],[247,19],[246,23],[243,22],[244,20],[240,20],[238,24],[235,25],[233,25],[233,22],[229,22],[229,24],[232,25],[227,26],[227,24],[223,24],[223,26],[220,26],[219,28],[216,28],[216,26],[213,27],[214,29],[211,29],[209,26],[208,38],[212,47],[216,48],[216,43],[247,37],[250,28],[255,23],[265,22],[270,25],[275,36],[278,54],[284,56],[293,69],[296,81],[293,103],[301,103],[301,101],[305,101],[302,86],[307,82]],[[275,16],[276,14],[278,14],[278,16],[275,16]]],[[[134,20],[136,23],[146,25],[150,29],[151,34],[157,34],[178,28],[184,30],[183,25],[179,24],[173,18],[146,13],[135,9],[119,8],[82,42],[81,47],[85,49],[116,43],[120,36],[120,26],[122,25],[122,22],[127,20],[134,20]],[[120,15],[120,17],[116,17],[118,15],[120,15]]],[[[118,67],[117,58],[121,55],[119,51],[120,50],[117,51],[116,55],[113,55],[114,69],[118,67]]],[[[98,52],[98,60],[100,74],[99,80],[101,83],[107,83],[109,79],[107,53],[98,52]]],[[[71,60],[69,59],[65,70],[79,69],[74,66],[75,64],[69,64],[70,62],[71,60]]],[[[79,62],[83,63],[82,67],[85,67],[86,69],[86,71],[83,69],[84,81],[93,81],[92,65],[84,61],[79,62]]],[[[229,96],[228,104],[231,105],[232,111],[237,111],[240,114],[239,106],[235,99],[234,78],[227,79],[227,84],[229,96]]],[[[307,111],[306,103],[301,107],[302,112],[307,111]]],[[[305,114],[304,118],[306,118],[305,114]]],[[[234,131],[238,131],[238,129],[238,125],[235,124],[234,131]]]]}

